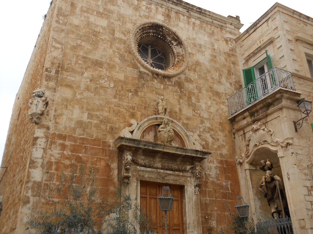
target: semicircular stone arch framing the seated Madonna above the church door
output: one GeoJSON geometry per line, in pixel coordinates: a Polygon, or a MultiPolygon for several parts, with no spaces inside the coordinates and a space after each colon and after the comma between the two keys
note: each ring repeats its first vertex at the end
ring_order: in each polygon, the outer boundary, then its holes
{"type": "Polygon", "coordinates": [[[172,123],[174,132],[180,137],[185,148],[195,149],[194,144],[192,142],[192,138],[187,133],[185,128],[181,124],[179,124],[176,120],[173,120],[170,117],[165,117],[162,115],[153,115],[142,120],[133,131],[132,138],[140,140],[141,135],[147,128],[153,127],[156,125],[161,125],[164,119],[167,119],[169,123],[172,123]]]}

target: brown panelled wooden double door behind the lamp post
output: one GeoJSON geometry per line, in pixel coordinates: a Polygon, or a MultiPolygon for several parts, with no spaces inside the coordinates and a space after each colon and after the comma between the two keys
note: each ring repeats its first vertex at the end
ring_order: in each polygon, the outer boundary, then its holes
{"type": "MultiPolygon", "coordinates": [[[[163,186],[164,184],[140,182],[140,209],[152,218],[152,230],[165,234],[165,212],[161,211],[157,199],[162,194],[163,186]]],[[[183,234],[182,187],[166,186],[170,187],[170,194],[174,198],[172,210],[167,211],[167,233],[183,234]]]]}

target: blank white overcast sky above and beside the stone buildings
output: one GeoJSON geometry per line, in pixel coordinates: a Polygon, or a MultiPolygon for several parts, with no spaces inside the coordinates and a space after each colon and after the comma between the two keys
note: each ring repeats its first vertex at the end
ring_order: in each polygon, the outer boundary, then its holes
{"type": "MultiPolygon", "coordinates": [[[[240,32],[243,32],[276,1],[187,0],[187,2],[225,17],[239,15],[241,23],[244,24],[240,32]]],[[[10,0],[0,3],[0,103],[2,104],[0,160],[3,155],[13,102],[44,22],[42,17],[49,9],[49,3],[50,0],[10,0]]],[[[280,0],[279,3],[313,17],[313,1],[280,0]]],[[[25,102],[28,102],[28,99],[25,102]]]]}

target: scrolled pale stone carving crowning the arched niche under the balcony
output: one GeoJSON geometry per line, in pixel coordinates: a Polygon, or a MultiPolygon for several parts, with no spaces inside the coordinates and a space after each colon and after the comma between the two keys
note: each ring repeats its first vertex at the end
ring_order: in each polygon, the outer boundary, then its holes
{"type": "Polygon", "coordinates": [[[284,139],[275,138],[274,130],[268,129],[266,124],[256,121],[246,140],[246,151],[240,157],[236,158],[237,164],[243,163],[249,159],[253,151],[261,145],[268,145],[273,147],[287,147],[292,145],[293,137],[286,137],[284,139]]]}

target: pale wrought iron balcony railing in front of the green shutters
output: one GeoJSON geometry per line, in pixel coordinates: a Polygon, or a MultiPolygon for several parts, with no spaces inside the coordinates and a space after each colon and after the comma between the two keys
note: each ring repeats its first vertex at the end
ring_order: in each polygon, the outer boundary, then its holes
{"type": "Polygon", "coordinates": [[[229,116],[236,114],[239,110],[244,109],[279,87],[295,90],[290,72],[272,68],[228,98],[229,116]]]}

